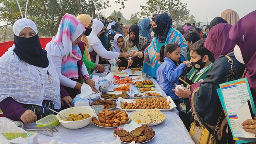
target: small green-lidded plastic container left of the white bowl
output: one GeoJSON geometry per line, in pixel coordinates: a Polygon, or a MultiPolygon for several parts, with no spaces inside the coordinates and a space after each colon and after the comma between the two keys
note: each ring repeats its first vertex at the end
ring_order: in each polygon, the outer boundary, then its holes
{"type": "Polygon", "coordinates": [[[46,117],[36,121],[37,127],[47,127],[49,125],[58,126],[60,122],[58,121],[56,115],[47,115],[46,117]]]}

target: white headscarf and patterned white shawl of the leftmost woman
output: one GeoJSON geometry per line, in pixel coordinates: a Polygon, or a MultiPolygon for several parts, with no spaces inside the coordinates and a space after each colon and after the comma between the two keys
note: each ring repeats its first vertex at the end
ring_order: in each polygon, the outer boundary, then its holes
{"type": "MultiPolygon", "coordinates": [[[[26,27],[38,30],[32,20],[22,18],[13,25],[16,36],[26,27]]],[[[0,57],[0,101],[11,97],[22,104],[42,105],[43,100],[55,102],[54,108],[61,108],[60,82],[52,60],[48,57],[49,65],[46,68],[30,65],[13,52],[15,45],[0,57]],[[51,81],[50,91],[47,71],[51,81]]]]}

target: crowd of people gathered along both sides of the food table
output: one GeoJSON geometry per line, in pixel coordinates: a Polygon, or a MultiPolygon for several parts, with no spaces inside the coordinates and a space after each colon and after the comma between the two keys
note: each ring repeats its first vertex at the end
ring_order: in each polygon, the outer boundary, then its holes
{"type": "MultiPolygon", "coordinates": [[[[101,64],[115,58],[119,66],[142,66],[143,78],[155,78],[175,102],[188,130],[196,121],[216,133],[217,143],[227,143],[227,120],[216,89],[224,82],[247,78],[255,98],[255,18],[256,11],[239,20],[235,11],[227,9],[209,25],[185,23],[174,28],[168,13],[131,26],[123,25],[120,18],[110,23],[105,17],[65,14],[45,50],[35,23],[22,18],[13,25],[13,46],[0,58],[0,109],[5,117],[27,124],[51,114],[47,107],[73,107],[83,83],[98,92],[91,73],[104,72],[101,64]],[[128,54],[134,46],[139,51],[128,54]],[[195,84],[175,89],[180,76],[195,84]],[[186,110],[180,111],[180,105],[186,110]],[[217,123],[220,129],[215,129],[217,123]]],[[[256,134],[249,128],[253,124],[249,119],[243,128],[256,134]]]]}

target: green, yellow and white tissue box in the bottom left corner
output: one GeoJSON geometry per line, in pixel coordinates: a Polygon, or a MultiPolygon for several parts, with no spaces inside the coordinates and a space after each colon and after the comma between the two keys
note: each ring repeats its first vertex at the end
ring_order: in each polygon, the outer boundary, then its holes
{"type": "Polygon", "coordinates": [[[24,138],[28,144],[37,144],[38,143],[38,133],[36,132],[27,132],[27,133],[1,133],[8,141],[13,140],[18,137],[24,138]]]}

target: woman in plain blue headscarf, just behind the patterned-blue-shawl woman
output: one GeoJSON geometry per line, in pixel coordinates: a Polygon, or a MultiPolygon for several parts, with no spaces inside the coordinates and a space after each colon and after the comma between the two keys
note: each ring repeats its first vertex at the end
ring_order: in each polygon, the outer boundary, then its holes
{"type": "Polygon", "coordinates": [[[148,39],[148,43],[150,43],[151,35],[148,29],[151,28],[151,23],[149,18],[143,18],[138,21],[138,26],[140,27],[140,35],[146,37],[148,39]]]}

